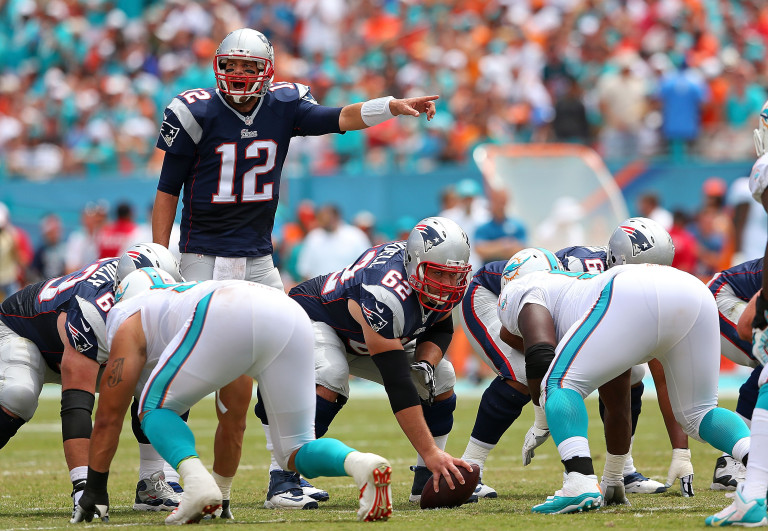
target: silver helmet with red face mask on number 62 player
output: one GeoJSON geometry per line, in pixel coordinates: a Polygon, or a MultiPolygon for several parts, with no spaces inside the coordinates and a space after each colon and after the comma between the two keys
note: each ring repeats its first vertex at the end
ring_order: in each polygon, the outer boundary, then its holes
{"type": "Polygon", "coordinates": [[[449,312],[467,289],[469,238],[448,218],[424,218],[411,230],[405,245],[408,283],[429,310],[449,312]]]}

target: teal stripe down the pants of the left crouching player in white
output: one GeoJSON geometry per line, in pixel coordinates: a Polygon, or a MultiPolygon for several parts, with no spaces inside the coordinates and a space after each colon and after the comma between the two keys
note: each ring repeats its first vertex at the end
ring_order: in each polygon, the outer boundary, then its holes
{"type": "Polygon", "coordinates": [[[195,313],[192,316],[192,323],[189,325],[184,339],[165,362],[165,365],[155,374],[154,378],[147,382],[147,393],[143,403],[139,404],[139,411],[149,411],[150,409],[159,409],[163,407],[168,389],[176,378],[179,370],[192,354],[195,345],[200,340],[200,334],[203,331],[205,317],[208,314],[208,308],[211,304],[213,293],[209,293],[197,303],[195,313]]]}

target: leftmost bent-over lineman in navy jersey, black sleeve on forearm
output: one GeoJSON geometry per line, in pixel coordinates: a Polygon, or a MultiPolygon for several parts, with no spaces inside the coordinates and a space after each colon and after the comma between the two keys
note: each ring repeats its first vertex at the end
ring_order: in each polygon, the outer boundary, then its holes
{"type": "MultiPolygon", "coordinates": [[[[0,448],[32,418],[43,384],[60,383],[64,457],[75,506],[85,487],[91,413],[99,367],[108,355],[106,317],[115,302],[115,280],[141,265],[163,267],[181,280],[166,248],[138,244],[119,259],[104,258],[29,285],[0,303],[0,448]]],[[[151,510],[178,505],[179,496],[166,490],[163,499],[156,497],[163,506],[151,510]]]]}

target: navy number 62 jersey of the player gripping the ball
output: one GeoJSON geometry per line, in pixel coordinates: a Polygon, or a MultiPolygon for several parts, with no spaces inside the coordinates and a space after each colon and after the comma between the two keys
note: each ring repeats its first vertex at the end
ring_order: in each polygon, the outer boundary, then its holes
{"type": "Polygon", "coordinates": [[[408,284],[404,256],[404,241],[368,249],[354,264],[302,282],[288,295],[313,321],[330,325],[351,353],[367,354],[368,349],[362,327],[349,313],[348,300],[360,305],[374,332],[405,345],[446,314],[419,303],[418,292],[408,284]]]}

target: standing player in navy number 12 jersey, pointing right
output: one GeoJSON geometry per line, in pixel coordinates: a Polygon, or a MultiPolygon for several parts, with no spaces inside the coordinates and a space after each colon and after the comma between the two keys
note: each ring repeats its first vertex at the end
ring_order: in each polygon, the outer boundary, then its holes
{"type": "MultiPolygon", "coordinates": [[[[183,92],[165,110],[157,141],[165,156],[152,234],[155,242],[169,245],[183,189],[179,250],[187,280],[240,279],[283,289],[272,261],[272,226],[291,138],[364,129],[398,115],[425,113],[430,120],[435,114],[438,96],[324,107],[309,87],[274,82],[274,64],[272,45],[263,34],[233,31],[216,50],[216,87],[183,92]]],[[[217,409],[217,414],[230,463],[216,472],[230,483],[240,460],[251,392],[252,380],[241,377],[224,387],[217,401],[228,410],[217,409]]],[[[284,479],[286,484],[298,481],[284,479]]],[[[304,484],[305,493],[327,499],[327,493],[304,484]]]]}

